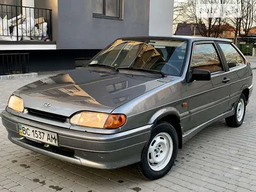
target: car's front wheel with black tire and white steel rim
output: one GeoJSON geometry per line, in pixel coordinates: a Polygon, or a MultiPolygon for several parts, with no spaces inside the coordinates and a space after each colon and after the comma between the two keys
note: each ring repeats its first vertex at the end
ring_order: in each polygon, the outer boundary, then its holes
{"type": "Polygon", "coordinates": [[[177,157],[178,147],[178,135],[173,126],[166,122],[157,124],[145,146],[141,162],[134,165],[136,168],[134,171],[143,179],[160,179],[171,170],[177,157]]]}

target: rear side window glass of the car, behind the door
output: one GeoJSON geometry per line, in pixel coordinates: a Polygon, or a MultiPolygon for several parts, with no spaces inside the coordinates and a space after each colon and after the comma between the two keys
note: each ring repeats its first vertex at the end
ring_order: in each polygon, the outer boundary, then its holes
{"type": "Polygon", "coordinates": [[[227,60],[228,67],[237,67],[240,65],[244,65],[245,61],[239,54],[239,52],[236,51],[235,47],[232,46],[232,44],[219,44],[221,47],[221,50],[224,53],[224,56],[227,60]]]}

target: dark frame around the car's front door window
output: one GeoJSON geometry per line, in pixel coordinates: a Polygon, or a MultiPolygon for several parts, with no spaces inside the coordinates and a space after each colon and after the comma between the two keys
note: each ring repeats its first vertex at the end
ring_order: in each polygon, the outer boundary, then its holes
{"type": "Polygon", "coordinates": [[[202,44],[211,44],[214,47],[214,49],[217,53],[217,56],[220,60],[220,65],[221,65],[222,70],[216,71],[216,72],[211,72],[211,76],[214,76],[216,74],[223,74],[223,73],[227,72],[227,68],[225,67],[225,65],[223,63],[220,51],[219,51],[218,47],[216,46],[216,42],[214,42],[214,41],[194,42],[193,43],[193,49],[191,50],[191,57],[190,57],[190,61],[189,61],[189,70],[188,70],[188,72],[191,72],[191,64],[192,64],[192,61],[193,61],[195,46],[196,45],[202,45],[202,44]]]}

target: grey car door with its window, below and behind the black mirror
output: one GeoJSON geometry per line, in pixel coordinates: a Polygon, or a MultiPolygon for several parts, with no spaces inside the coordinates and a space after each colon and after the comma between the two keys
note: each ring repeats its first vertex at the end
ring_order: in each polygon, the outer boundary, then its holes
{"type": "Polygon", "coordinates": [[[230,101],[230,81],[226,68],[214,42],[197,42],[193,45],[190,71],[194,68],[209,70],[211,81],[188,83],[189,126],[192,129],[227,111],[230,101]]]}

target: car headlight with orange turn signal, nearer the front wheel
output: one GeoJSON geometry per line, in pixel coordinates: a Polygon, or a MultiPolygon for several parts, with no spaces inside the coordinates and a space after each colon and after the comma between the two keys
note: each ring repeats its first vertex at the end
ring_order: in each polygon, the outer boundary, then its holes
{"type": "Polygon", "coordinates": [[[105,114],[81,112],[70,119],[73,125],[92,127],[98,129],[117,129],[126,122],[126,116],[122,114],[105,114]]]}

